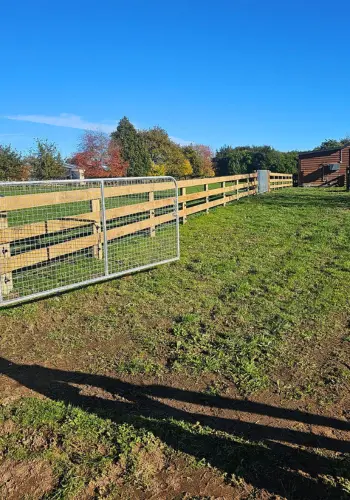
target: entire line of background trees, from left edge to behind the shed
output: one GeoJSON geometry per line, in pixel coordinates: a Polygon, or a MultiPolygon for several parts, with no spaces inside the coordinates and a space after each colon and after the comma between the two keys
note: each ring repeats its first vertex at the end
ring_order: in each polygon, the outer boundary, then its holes
{"type": "MultiPolygon", "coordinates": [[[[327,139],[315,149],[336,148],[349,142],[349,137],[327,139]]],[[[64,179],[67,164],[82,169],[85,178],[171,175],[180,179],[259,169],[295,173],[298,151],[282,152],[271,146],[223,146],[214,155],[204,144],[177,144],[160,127],[136,130],[126,117],[109,136],[84,132],[77,151],[65,159],[55,144],[40,139],[26,156],[11,146],[0,145],[0,180],[64,179]]]]}

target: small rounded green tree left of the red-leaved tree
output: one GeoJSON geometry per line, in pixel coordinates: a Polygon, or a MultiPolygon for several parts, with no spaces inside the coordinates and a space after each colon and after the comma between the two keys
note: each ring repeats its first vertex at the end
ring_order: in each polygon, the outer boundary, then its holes
{"type": "Polygon", "coordinates": [[[37,139],[36,148],[27,159],[36,180],[64,179],[66,169],[60,152],[54,143],[37,139]]]}

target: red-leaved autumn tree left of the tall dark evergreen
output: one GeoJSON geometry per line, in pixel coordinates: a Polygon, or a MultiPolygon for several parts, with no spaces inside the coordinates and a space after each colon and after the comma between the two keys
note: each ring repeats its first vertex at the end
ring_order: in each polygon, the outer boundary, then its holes
{"type": "Polygon", "coordinates": [[[129,166],[115,141],[103,132],[90,130],[84,132],[79,151],[70,161],[84,170],[85,178],[123,177],[129,166]]]}

